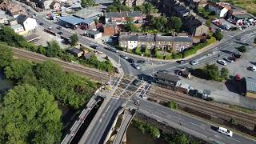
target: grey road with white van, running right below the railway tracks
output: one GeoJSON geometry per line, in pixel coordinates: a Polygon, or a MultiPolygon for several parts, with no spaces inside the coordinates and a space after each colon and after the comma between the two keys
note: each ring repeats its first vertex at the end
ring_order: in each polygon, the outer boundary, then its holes
{"type": "MultiPolygon", "coordinates": [[[[138,98],[134,98],[138,99],[138,98]]],[[[166,125],[172,126],[179,130],[194,135],[195,137],[202,138],[208,142],[214,143],[232,143],[232,144],[254,144],[255,140],[245,138],[240,134],[233,134],[233,137],[228,137],[224,134],[220,134],[216,131],[217,126],[213,126],[210,123],[203,122],[198,118],[186,116],[180,114],[177,111],[170,110],[167,107],[160,106],[156,103],[146,101],[139,98],[140,106],[138,112],[146,114],[150,118],[158,120],[158,122],[166,123],[166,125]],[[182,126],[180,125],[182,123],[182,126]]],[[[137,107],[133,102],[129,102],[128,106],[137,107]]]]}

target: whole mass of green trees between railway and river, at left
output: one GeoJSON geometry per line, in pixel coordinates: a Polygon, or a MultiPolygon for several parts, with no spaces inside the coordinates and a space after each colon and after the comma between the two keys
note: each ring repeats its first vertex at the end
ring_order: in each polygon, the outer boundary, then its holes
{"type": "Polygon", "coordinates": [[[63,126],[58,103],[81,109],[99,86],[53,62],[13,59],[10,47],[2,43],[0,70],[16,83],[0,99],[1,143],[60,143],[63,126]]]}

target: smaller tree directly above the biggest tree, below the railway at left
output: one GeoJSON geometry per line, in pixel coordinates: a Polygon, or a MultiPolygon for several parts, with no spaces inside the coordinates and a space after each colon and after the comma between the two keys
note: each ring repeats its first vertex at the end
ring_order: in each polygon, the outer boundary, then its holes
{"type": "Polygon", "coordinates": [[[10,66],[6,66],[6,78],[20,79],[26,74],[32,74],[32,65],[26,60],[14,60],[10,66]]]}

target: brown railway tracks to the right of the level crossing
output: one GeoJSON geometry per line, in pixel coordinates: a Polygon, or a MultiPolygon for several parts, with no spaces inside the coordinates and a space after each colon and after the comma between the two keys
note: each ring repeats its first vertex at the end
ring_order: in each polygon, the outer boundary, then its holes
{"type": "Polygon", "coordinates": [[[174,101],[181,106],[186,106],[193,110],[201,111],[204,114],[217,116],[218,118],[224,118],[226,120],[235,118],[239,124],[249,126],[250,128],[254,128],[256,125],[256,116],[254,114],[247,114],[242,111],[233,110],[224,106],[218,106],[214,103],[193,98],[185,94],[177,94],[172,90],[166,90],[158,86],[152,86],[147,95],[150,98],[155,98],[163,102],[174,101]]]}

